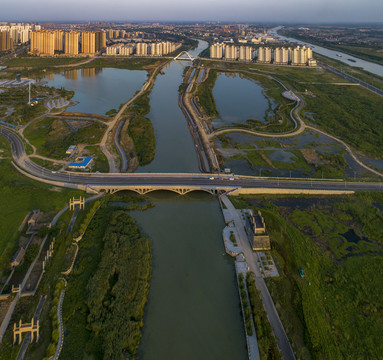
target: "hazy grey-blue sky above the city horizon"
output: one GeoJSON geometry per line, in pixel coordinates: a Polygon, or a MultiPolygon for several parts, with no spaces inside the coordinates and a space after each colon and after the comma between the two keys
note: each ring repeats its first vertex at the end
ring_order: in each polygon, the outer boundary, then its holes
{"type": "Polygon", "coordinates": [[[383,0],[14,0],[0,21],[383,23],[383,0]]]}

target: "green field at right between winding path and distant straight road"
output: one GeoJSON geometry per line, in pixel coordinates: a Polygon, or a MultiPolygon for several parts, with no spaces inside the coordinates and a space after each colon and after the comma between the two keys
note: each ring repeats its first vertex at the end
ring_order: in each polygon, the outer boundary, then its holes
{"type": "Polygon", "coordinates": [[[304,111],[313,114],[315,125],[367,155],[383,156],[381,96],[360,86],[336,85],[347,81],[322,69],[256,68],[273,72],[301,94],[305,100],[304,111]]]}

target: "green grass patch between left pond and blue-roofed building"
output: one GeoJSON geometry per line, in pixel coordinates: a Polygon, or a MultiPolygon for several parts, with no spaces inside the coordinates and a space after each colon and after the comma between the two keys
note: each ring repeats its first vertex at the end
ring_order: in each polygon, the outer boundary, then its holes
{"type": "Polygon", "coordinates": [[[106,125],[100,122],[89,125],[73,132],[64,120],[44,118],[29,125],[24,134],[39,155],[63,159],[70,145],[94,145],[101,141],[106,125]]]}

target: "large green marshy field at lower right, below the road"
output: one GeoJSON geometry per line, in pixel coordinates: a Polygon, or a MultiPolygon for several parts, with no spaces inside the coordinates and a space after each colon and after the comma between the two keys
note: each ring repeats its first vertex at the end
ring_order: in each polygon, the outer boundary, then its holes
{"type": "Polygon", "coordinates": [[[297,358],[379,359],[382,194],[234,201],[265,218],[281,274],[267,285],[297,358]]]}

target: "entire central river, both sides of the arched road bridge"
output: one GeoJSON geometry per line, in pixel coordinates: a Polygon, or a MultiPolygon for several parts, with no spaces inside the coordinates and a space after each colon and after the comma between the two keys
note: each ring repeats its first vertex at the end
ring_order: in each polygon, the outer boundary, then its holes
{"type": "MultiPolygon", "coordinates": [[[[200,41],[189,53],[207,47],[200,41]]],[[[150,94],[156,154],[141,172],[199,172],[178,87],[190,61],[172,61],[150,94]]],[[[234,263],[225,254],[225,226],[216,197],[153,193],[156,207],[132,212],[152,243],[153,273],[139,358],[246,359],[234,263]]]]}

